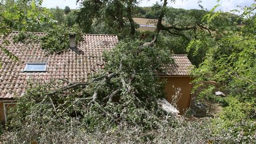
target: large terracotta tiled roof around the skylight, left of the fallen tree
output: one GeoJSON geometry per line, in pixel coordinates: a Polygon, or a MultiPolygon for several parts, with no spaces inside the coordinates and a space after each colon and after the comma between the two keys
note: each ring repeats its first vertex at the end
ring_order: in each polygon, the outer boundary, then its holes
{"type": "MultiPolygon", "coordinates": [[[[17,33],[12,33],[13,37],[17,33]]],[[[36,33],[44,36],[46,33],[36,33]]],[[[12,41],[11,39],[9,39],[12,41]]],[[[44,82],[52,79],[67,79],[71,82],[86,81],[88,75],[104,68],[103,51],[110,50],[119,42],[114,35],[85,34],[78,44],[78,52],[66,52],[46,56],[39,43],[9,44],[7,49],[18,57],[9,59],[0,50],[0,98],[19,97],[24,94],[28,80],[44,82]],[[46,72],[23,72],[27,62],[47,62],[46,72]]],[[[1,43],[1,40],[0,40],[1,43]]]]}

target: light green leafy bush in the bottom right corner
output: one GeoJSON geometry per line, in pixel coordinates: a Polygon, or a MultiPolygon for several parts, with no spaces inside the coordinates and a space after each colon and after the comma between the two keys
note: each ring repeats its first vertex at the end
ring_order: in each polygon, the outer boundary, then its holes
{"type": "Polygon", "coordinates": [[[251,116],[255,110],[255,104],[244,102],[234,97],[227,98],[229,105],[218,114],[216,119],[212,120],[213,135],[229,131],[230,135],[236,137],[239,142],[250,142],[255,140],[256,123],[251,116]]]}

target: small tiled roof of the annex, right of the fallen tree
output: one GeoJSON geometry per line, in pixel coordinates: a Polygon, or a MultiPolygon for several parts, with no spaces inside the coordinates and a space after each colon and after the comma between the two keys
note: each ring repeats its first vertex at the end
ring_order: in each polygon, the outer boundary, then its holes
{"type": "Polygon", "coordinates": [[[163,66],[161,76],[189,76],[193,68],[192,63],[186,55],[171,55],[174,63],[163,66]]]}

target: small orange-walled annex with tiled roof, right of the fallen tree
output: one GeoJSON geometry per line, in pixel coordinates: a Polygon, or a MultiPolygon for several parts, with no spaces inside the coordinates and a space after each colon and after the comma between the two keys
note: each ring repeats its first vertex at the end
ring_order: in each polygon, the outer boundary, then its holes
{"type": "Polygon", "coordinates": [[[190,70],[193,65],[186,55],[171,55],[171,57],[174,63],[164,66],[159,76],[167,81],[165,98],[171,104],[175,102],[180,114],[183,114],[190,107],[191,89],[193,88],[190,70]],[[173,97],[177,97],[177,100],[175,101],[173,97]]]}

